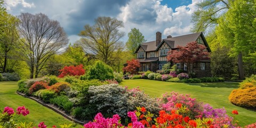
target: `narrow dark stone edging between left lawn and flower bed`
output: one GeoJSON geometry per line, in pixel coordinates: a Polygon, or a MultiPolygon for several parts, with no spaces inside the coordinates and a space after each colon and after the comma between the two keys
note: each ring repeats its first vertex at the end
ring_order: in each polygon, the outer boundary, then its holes
{"type": "Polygon", "coordinates": [[[47,108],[50,108],[50,109],[54,110],[56,113],[58,113],[58,114],[60,114],[60,115],[62,115],[62,116],[64,116],[64,117],[66,117],[66,118],[69,119],[70,121],[73,121],[73,122],[78,123],[78,124],[81,124],[81,125],[84,125],[84,124],[86,123],[86,122],[78,121],[77,119],[74,119],[74,118],[68,116],[67,114],[63,113],[63,112],[60,111],[58,108],[55,108],[55,107],[50,106],[50,105],[47,105],[47,103],[44,103],[44,102],[42,102],[42,101],[39,101],[38,99],[36,99],[36,98],[34,98],[34,97],[28,97],[27,95],[25,95],[25,94],[23,94],[23,93],[20,93],[20,92],[18,92],[18,91],[17,91],[17,94],[22,95],[22,96],[25,97],[25,98],[29,98],[29,99],[35,100],[36,102],[40,103],[41,105],[43,105],[43,106],[45,106],[45,107],[47,107],[47,108]]]}

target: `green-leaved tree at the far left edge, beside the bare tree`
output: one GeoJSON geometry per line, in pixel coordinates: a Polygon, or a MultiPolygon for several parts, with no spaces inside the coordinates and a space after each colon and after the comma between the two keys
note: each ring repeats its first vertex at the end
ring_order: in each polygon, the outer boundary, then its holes
{"type": "Polygon", "coordinates": [[[2,30],[2,36],[0,36],[0,65],[3,68],[3,73],[5,73],[7,68],[7,61],[8,59],[11,59],[10,51],[14,50],[18,43],[19,36],[17,34],[17,26],[19,19],[8,13],[4,13],[3,15],[6,20],[5,26],[2,30]]]}

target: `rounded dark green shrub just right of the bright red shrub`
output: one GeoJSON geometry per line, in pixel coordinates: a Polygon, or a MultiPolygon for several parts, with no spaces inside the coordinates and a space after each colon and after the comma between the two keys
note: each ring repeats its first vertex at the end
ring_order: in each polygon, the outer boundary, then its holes
{"type": "Polygon", "coordinates": [[[88,71],[88,79],[113,79],[114,73],[111,67],[102,61],[97,61],[93,67],[88,71]]]}

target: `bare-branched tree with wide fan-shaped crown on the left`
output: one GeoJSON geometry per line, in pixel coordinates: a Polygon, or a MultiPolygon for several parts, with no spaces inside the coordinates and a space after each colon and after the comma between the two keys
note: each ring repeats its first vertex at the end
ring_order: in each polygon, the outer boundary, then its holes
{"type": "Polygon", "coordinates": [[[68,38],[60,23],[50,20],[45,14],[21,13],[19,32],[20,49],[26,55],[30,68],[30,78],[37,78],[45,68],[46,61],[67,45],[68,38]]]}

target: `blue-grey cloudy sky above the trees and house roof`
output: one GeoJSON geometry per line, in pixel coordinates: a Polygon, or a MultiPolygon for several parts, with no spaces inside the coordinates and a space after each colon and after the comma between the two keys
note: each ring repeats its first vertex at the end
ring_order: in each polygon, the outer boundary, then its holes
{"type": "Polygon", "coordinates": [[[124,22],[121,30],[126,33],[132,28],[140,29],[147,41],[155,39],[156,31],[162,37],[190,33],[191,15],[196,3],[202,0],[5,0],[9,13],[44,13],[50,19],[58,20],[74,43],[84,25],[94,24],[94,19],[105,16],[124,22]]]}

